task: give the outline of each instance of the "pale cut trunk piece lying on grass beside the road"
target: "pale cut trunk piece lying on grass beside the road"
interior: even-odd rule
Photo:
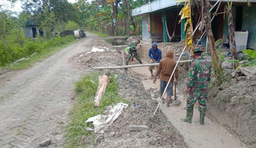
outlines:
[[[99,86],[96,92],[96,96],[94,98],[94,107],[100,106],[101,99],[103,98],[106,92],[107,85],[109,84],[109,82],[110,82],[110,79],[107,75],[101,75],[99,77]]]

